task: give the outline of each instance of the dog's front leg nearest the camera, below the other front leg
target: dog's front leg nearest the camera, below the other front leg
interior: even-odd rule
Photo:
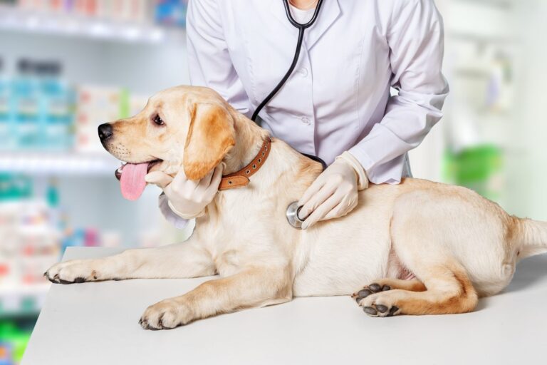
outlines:
[[[204,282],[192,292],[154,304],[142,314],[139,323],[144,329],[172,329],[216,314],[291,299],[292,279],[288,267],[252,267],[231,277]]]

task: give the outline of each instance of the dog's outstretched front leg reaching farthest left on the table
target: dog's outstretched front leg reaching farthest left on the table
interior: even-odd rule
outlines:
[[[215,273],[209,252],[190,239],[174,245],[127,250],[101,259],[73,259],[46,272],[51,282],[204,277]]]

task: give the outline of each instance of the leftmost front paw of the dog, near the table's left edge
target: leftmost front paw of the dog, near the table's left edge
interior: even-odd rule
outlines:
[[[75,259],[59,262],[44,273],[50,282],[56,284],[74,284],[91,282],[99,279],[97,270],[89,260]]]

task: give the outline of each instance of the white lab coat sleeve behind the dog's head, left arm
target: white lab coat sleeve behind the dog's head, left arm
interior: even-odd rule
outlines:
[[[240,113],[251,116],[249,96],[231,62],[216,0],[190,0],[187,12],[190,82],[219,93]]]

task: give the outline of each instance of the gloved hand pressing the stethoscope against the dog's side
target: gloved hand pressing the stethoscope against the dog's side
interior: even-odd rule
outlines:
[[[298,206],[302,229],[320,220],[343,217],[357,206],[358,190],[368,187],[365,170],[350,153],[345,152],[318,176],[304,192]]]

